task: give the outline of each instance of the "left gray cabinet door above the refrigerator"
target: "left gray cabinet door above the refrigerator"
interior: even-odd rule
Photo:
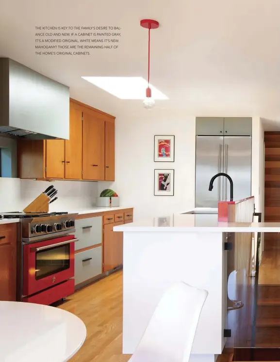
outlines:
[[[224,118],[222,117],[197,117],[197,136],[222,136],[224,134]]]

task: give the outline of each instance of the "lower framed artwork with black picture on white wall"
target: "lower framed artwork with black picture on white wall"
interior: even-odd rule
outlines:
[[[155,196],[174,196],[174,170],[155,170]]]

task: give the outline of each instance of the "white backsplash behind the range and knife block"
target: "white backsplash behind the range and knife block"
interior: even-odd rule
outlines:
[[[58,199],[49,205],[49,211],[89,208],[95,205],[98,182],[35,181],[0,177],[0,212],[22,211],[41,192],[53,185]]]

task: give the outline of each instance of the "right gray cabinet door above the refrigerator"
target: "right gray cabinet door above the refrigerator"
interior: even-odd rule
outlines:
[[[224,118],[224,136],[251,136],[252,118],[226,117]]]

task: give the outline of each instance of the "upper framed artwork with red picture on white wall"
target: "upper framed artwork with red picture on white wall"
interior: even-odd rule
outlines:
[[[155,136],[154,162],[174,162],[175,136]]]

